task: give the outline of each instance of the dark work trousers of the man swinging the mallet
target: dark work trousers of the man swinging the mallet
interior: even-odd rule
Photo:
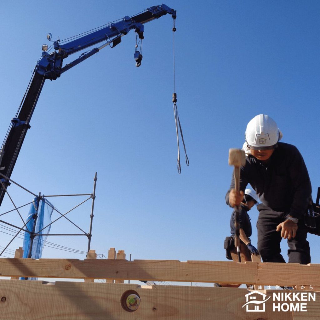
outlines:
[[[287,213],[274,211],[264,204],[258,205],[258,251],[263,262],[285,262],[281,255],[280,241],[281,231],[276,231],[279,223],[286,220]],[[288,257],[291,263],[308,264],[311,261],[310,247],[307,241],[307,231],[304,219],[299,219],[297,234],[291,240],[287,240],[289,250]]]

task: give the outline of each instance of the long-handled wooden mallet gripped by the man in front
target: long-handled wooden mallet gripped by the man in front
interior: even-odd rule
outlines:
[[[245,152],[241,149],[229,149],[229,165],[233,165],[235,176],[235,190],[240,191],[240,167],[245,165]],[[240,256],[240,231],[239,231],[239,206],[235,207],[235,246],[237,248],[238,259],[241,262]]]

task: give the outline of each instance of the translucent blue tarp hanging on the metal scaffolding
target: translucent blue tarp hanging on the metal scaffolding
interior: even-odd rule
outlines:
[[[38,204],[38,198],[34,198],[28,213],[27,224],[26,224],[26,228],[30,232],[32,232],[33,230],[33,225],[35,221],[34,216],[37,211],[37,204]],[[51,225],[48,227],[46,226],[51,223],[52,212],[53,212],[53,205],[49,201],[47,201],[45,198],[42,198],[40,200],[40,204],[38,207],[38,217],[36,220],[35,233],[38,233],[40,231],[40,234],[49,234]],[[44,227],[46,228],[43,229]],[[33,259],[41,258],[42,250],[43,250],[46,239],[47,239],[47,236],[35,236],[32,244],[31,258]],[[22,246],[23,258],[28,258],[29,251],[30,251],[30,244],[31,244],[30,240],[31,240],[30,233],[25,232],[24,239],[23,239],[23,246]],[[24,279],[24,278],[20,278],[20,279]],[[36,278],[32,278],[32,279],[36,279]]]

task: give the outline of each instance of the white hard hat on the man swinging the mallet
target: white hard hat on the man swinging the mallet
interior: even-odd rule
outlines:
[[[276,122],[267,115],[258,115],[251,119],[244,135],[253,150],[273,149],[282,138]]]

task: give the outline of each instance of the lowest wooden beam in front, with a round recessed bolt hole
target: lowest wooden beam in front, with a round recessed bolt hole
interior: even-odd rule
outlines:
[[[121,296],[134,290],[141,299],[136,311],[121,306]],[[279,291],[279,290],[278,290]],[[273,290],[263,291],[272,295]],[[320,293],[308,302],[307,312],[275,312],[271,299],[264,312],[248,312],[243,288],[154,285],[151,289],[136,284],[102,284],[0,280],[0,320],[318,320]],[[254,293],[254,292],[253,292]]]

